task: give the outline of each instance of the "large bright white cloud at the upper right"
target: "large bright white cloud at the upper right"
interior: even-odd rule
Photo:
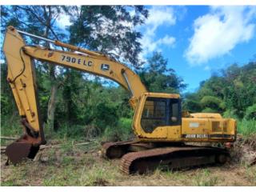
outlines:
[[[194,21],[194,35],[185,52],[191,66],[228,54],[255,33],[255,6],[212,6],[210,13]]]

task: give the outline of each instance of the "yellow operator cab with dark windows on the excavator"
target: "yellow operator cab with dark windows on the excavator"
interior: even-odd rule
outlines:
[[[178,94],[143,94],[137,112],[137,122],[146,137],[155,130],[166,137],[174,126],[180,129],[182,125],[182,106]]]

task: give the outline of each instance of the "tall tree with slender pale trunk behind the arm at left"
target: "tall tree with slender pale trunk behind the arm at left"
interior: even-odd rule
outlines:
[[[45,38],[63,39],[65,34],[55,25],[56,19],[69,10],[65,6],[3,6],[2,30],[6,26],[16,26],[19,30],[26,30],[31,34],[38,34]],[[29,39],[29,42],[39,44],[38,39]],[[50,47],[48,42],[44,46]],[[38,64],[40,62],[37,62]],[[50,99],[47,110],[47,124],[50,129],[54,126],[54,112],[56,109],[56,95],[60,79],[56,76],[56,67],[44,65],[50,78]]]

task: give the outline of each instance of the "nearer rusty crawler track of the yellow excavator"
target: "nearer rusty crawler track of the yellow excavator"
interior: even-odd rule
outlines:
[[[162,147],[123,155],[120,169],[126,174],[135,172],[143,174],[147,170],[154,170],[161,165],[169,166],[172,169],[183,166],[199,166],[214,162],[218,154],[226,153],[226,150],[214,147]]]

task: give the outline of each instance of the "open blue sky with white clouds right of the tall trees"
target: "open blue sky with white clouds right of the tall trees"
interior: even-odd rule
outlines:
[[[162,51],[169,66],[194,91],[212,72],[243,65],[256,54],[256,6],[147,6],[138,30],[142,58]]]

